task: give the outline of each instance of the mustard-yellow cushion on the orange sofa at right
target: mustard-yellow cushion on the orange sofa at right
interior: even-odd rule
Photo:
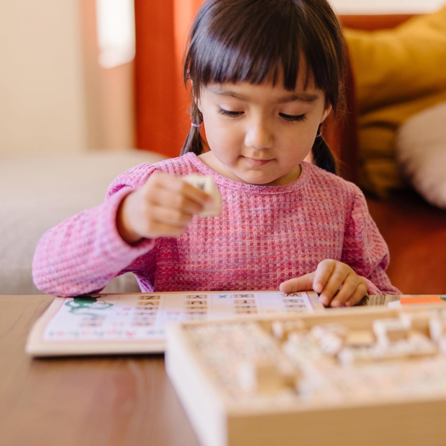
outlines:
[[[396,130],[446,98],[446,7],[391,30],[345,29],[359,105],[359,178],[379,195],[401,187]]]

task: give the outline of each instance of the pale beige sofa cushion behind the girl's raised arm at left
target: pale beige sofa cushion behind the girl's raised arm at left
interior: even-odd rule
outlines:
[[[96,206],[121,172],[161,155],[139,150],[0,160],[0,294],[41,294],[31,277],[37,241],[50,227]],[[139,291],[132,274],[107,292]]]

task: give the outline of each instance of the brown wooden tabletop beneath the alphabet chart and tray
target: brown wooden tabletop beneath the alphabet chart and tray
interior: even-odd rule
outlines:
[[[2,446],[192,446],[162,355],[31,359],[49,296],[0,296]]]

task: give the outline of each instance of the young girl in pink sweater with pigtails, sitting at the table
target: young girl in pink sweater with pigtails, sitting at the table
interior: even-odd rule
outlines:
[[[131,271],[143,292],[314,289],[326,306],[399,293],[364,196],[320,134],[344,48],[326,0],[206,0],[186,50],[182,156],[128,170],[103,204],[43,235],[37,287],[75,296]],[[212,176],[220,215],[198,217],[211,197],[191,173]]]

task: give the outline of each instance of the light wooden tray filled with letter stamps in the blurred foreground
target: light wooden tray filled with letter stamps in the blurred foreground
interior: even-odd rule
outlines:
[[[177,323],[165,364],[206,446],[440,446],[445,321],[424,305]]]

